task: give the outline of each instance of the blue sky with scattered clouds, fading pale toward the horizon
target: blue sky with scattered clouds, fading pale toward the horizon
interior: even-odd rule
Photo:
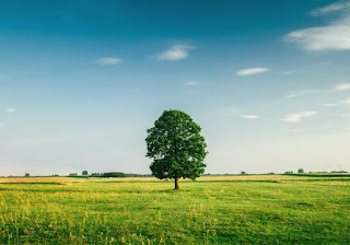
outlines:
[[[0,176],[150,173],[168,108],[207,173],[350,171],[349,1],[0,2]]]

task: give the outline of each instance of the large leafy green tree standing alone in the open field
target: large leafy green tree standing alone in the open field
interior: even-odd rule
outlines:
[[[178,189],[179,178],[195,180],[205,173],[203,160],[208,152],[200,130],[188,114],[164,110],[154,127],[147,130],[145,156],[153,159],[152,174],[160,179],[175,179],[175,189]]]

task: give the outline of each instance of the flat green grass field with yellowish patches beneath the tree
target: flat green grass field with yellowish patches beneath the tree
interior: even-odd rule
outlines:
[[[350,244],[350,178],[0,178],[0,244]]]

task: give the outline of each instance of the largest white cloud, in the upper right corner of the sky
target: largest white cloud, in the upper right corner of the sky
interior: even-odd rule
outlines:
[[[338,19],[324,26],[293,31],[283,40],[310,51],[350,50],[350,2],[334,3],[311,11],[313,15],[341,11]]]

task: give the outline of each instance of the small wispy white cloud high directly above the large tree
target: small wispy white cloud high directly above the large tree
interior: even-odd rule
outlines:
[[[163,61],[177,61],[182,59],[186,59],[188,57],[188,50],[196,48],[190,45],[174,45],[167,50],[156,54],[153,58],[156,60]]]

